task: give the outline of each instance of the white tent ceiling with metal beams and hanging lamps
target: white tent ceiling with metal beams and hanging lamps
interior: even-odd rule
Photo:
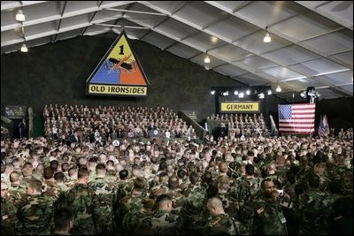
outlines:
[[[1,53],[79,35],[149,42],[251,86],[353,95],[352,1],[2,1]],[[26,20],[15,19],[19,9]],[[263,42],[266,28],[272,42]]]

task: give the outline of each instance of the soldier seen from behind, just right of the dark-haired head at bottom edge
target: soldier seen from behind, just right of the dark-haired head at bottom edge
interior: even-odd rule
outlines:
[[[73,210],[73,234],[96,234],[94,218],[96,194],[88,187],[89,170],[82,166],[78,171],[76,185],[59,198],[59,207],[68,207]]]

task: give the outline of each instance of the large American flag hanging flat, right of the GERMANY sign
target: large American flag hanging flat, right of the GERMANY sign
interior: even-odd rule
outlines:
[[[316,104],[278,105],[281,133],[314,133]]]

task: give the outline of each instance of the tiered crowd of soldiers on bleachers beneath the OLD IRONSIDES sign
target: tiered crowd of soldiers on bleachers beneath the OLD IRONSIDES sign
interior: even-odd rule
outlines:
[[[165,107],[45,105],[45,137],[61,141],[106,142],[118,138],[149,138],[149,131],[167,138],[196,139],[192,126]]]

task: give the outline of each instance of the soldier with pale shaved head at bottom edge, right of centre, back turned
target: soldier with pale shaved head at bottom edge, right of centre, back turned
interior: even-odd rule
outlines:
[[[247,234],[245,227],[225,213],[222,202],[217,197],[209,199],[207,208],[212,218],[205,225],[205,233],[209,235],[241,235]]]

